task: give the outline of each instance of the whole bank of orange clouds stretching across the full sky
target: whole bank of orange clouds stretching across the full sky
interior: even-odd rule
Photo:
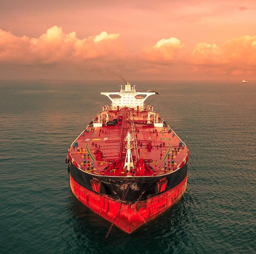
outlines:
[[[0,65],[44,70],[50,66],[53,74],[67,71],[75,77],[93,71],[107,75],[107,69],[138,77],[255,75],[256,36],[233,38],[220,45],[201,42],[193,49],[175,37],[156,40],[137,53],[129,51],[128,46],[120,33],[106,31],[79,39],[76,32],[65,33],[58,26],[38,38],[17,37],[0,29]],[[53,65],[60,68],[53,69]]]

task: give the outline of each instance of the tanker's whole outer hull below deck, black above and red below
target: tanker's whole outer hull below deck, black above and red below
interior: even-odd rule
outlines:
[[[149,179],[141,181],[141,177],[99,178],[70,165],[70,187],[75,197],[105,220],[132,233],[181,199],[187,187],[187,164],[164,177],[152,176],[150,182]],[[94,188],[95,182],[98,188]],[[107,189],[109,187],[114,191]]]

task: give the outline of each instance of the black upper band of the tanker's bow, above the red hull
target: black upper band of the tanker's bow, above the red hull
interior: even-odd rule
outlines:
[[[86,171],[77,169],[73,164],[70,165],[70,175],[83,188],[95,192],[92,187],[92,179],[97,179],[101,184],[99,194],[105,194],[114,200],[122,200],[126,203],[135,203],[138,200],[145,200],[156,196],[157,182],[163,178],[167,179],[166,192],[179,185],[187,175],[187,164],[183,165],[175,172],[148,177],[109,177],[89,174]]]

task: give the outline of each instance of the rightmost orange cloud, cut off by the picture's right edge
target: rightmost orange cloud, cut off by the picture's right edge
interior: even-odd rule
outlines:
[[[251,76],[255,74],[256,36],[234,38],[221,46],[198,43],[188,62],[194,72]]]

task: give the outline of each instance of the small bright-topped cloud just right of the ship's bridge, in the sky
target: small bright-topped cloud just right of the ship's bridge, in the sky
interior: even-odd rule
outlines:
[[[172,62],[182,48],[183,45],[177,38],[161,39],[153,47],[144,49],[141,58],[160,64]]]

